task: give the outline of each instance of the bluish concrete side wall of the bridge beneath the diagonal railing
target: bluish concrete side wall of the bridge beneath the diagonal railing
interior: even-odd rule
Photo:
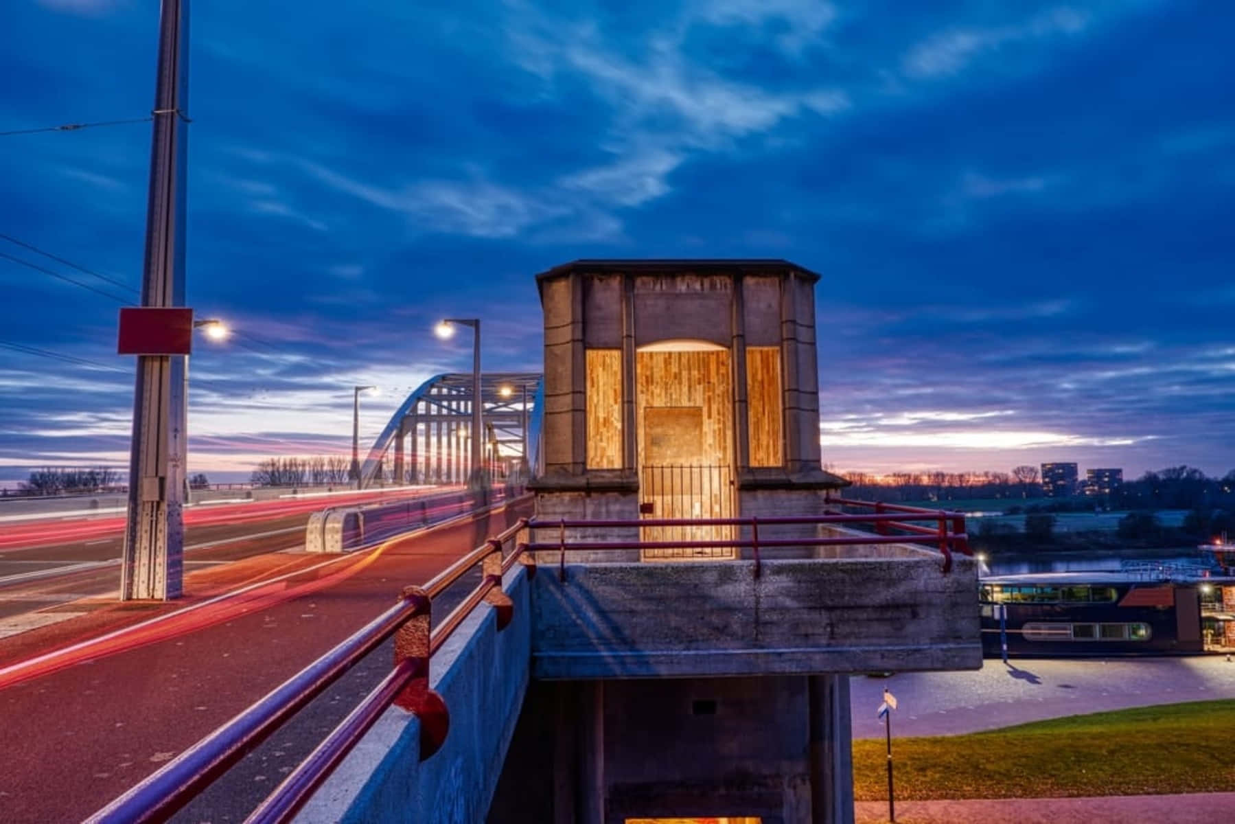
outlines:
[[[506,629],[498,633],[493,609],[482,604],[433,657],[431,684],[450,709],[442,749],[420,761],[420,723],[393,707],[296,822],[484,820],[527,688],[531,649],[526,571],[516,566],[504,586],[515,604]]]

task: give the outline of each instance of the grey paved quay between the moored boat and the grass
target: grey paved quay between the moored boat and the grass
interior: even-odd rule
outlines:
[[[1235,698],[1235,662],[1223,656],[1010,663],[988,658],[976,672],[857,676],[850,681],[853,738],[883,736],[874,713],[884,687],[899,702],[893,735],[957,735],[1061,715]]]

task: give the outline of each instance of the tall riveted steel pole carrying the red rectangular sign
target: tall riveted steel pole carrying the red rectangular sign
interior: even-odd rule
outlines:
[[[189,0],[162,0],[142,306],[184,305]],[[190,330],[191,334],[191,330]],[[140,355],[120,598],[178,598],[184,577],[185,356]]]

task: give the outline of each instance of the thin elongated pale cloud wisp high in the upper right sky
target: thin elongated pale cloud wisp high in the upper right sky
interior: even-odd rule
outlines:
[[[931,35],[913,46],[902,58],[905,77],[929,80],[958,74],[973,59],[1014,43],[1077,36],[1091,23],[1089,16],[1061,6],[1035,15],[1021,23],[993,27],[958,26]]]

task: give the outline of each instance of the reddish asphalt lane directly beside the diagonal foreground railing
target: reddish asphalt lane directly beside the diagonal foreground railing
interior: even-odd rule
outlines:
[[[290,576],[162,612],[72,652],[70,666],[0,668],[0,820],[90,814],[388,608],[403,586],[429,579],[527,514],[530,505],[521,507],[335,556],[326,566],[322,556],[301,555]],[[389,671],[389,655],[375,651],[351,673],[356,678],[306,708],[308,723],[259,747],[184,820],[243,818],[312,749],[314,736],[346,715],[343,697]],[[211,798],[227,809],[203,812]]]

